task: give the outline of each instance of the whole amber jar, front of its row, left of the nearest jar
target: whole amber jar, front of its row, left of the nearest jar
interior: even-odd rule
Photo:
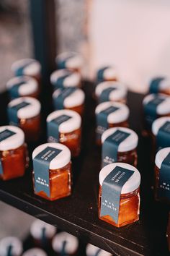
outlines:
[[[47,200],[71,195],[71,152],[60,143],[45,143],[32,153],[34,192]]]

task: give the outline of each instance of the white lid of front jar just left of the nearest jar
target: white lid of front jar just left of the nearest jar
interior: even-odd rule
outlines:
[[[50,170],[55,170],[58,168],[62,168],[66,166],[71,161],[71,151],[61,143],[45,143],[37,148],[32,152],[32,159],[35,158],[37,154],[45,150],[45,148],[57,148],[58,150],[62,150],[61,153],[55,156],[52,161],[50,161]]]

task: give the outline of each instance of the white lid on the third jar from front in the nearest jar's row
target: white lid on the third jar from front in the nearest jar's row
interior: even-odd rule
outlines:
[[[126,106],[123,103],[119,103],[119,102],[114,102],[113,103],[113,102],[110,102],[110,101],[106,101],[106,102],[100,103],[97,106],[97,108],[95,110],[95,113],[99,114],[101,111],[104,111],[104,109],[109,108],[110,106],[113,106],[113,107],[116,107],[116,108],[119,108],[119,109],[110,113],[107,116],[107,122],[109,124],[114,124],[114,123],[117,124],[117,123],[120,123],[122,121],[126,121],[128,119],[129,114],[130,114],[128,106]]]

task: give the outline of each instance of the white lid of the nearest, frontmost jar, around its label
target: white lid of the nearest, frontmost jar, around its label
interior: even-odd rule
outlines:
[[[104,179],[109,175],[116,166],[120,166],[122,168],[127,168],[130,171],[135,171],[130,179],[123,185],[121,194],[126,194],[133,192],[135,189],[138,189],[140,185],[140,173],[134,166],[131,166],[128,163],[110,163],[107,166],[104,166],[102,170],[99,172],[99,184],[102,186]]]

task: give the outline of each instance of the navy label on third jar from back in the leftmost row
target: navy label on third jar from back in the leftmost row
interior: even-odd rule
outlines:
[[[18,125],[19,119],[17,116],[17,112],[19,111],[19,109],[25,108],[28,105],[30,105],[30,103],[28,103],[26,101],[22,101],[22,103],[19,103],[15,106],[8,107],[7,111],[8,111],[8,118],[9,118],[10,123],[12,123],[14,125]]]

